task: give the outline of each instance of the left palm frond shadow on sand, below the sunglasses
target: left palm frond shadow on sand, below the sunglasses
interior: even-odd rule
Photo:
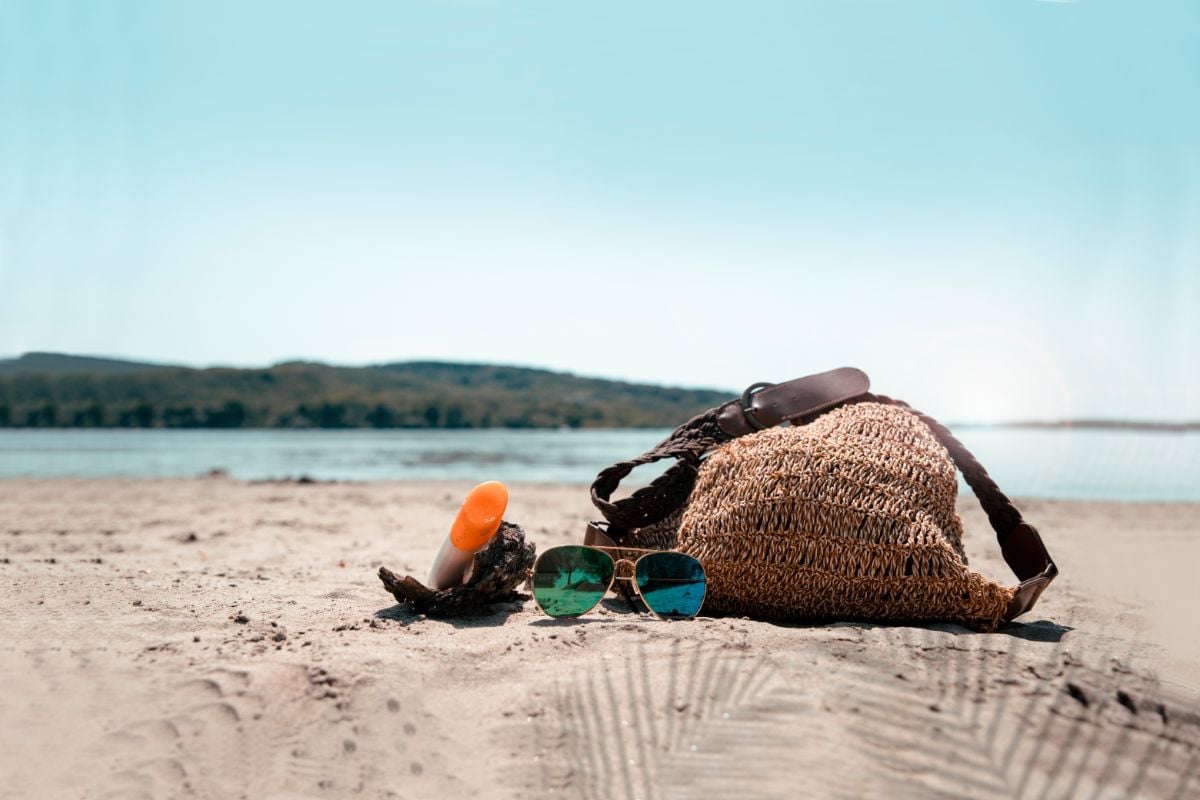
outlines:
[[[544,777],[565,796],[804,794],[793,768],[804,760],[805,721],[814,710],[761,654],[707,646],[680,652],[677,640],[670,656],[655,658],[643,646],[559,685],[553,704],[553,738],[563,752]]]

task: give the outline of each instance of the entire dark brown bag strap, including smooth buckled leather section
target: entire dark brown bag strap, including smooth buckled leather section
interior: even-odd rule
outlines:
[[[596,476],[592,483],[592,501],[610,523],[607,533],[601,534],[605,543],[618,545],[626,531],[661,522],[683,507],[695,486],[700,462],[719,444],[784,421],[806,422],[846,403],[887,403],[912,411],[929,426],[988,515],[1001,554],[1021,582],[1004,619],[1015,619],[1033,608],[1042,591],[1058,575],[1037,529],[1021,518],[1021,512],[1000,491],[988,470],[946,426],[902,401],[871,395],[869,389],[865,373],[844,367],[785,384],[755,384],[740,398],[692,417],[654,449],[637,458],[618,462]],[[635,467],[664,458],[674,458],[676,463],[649,486],[623,500],[611,499]],[[601,541],[596,536],[599,533],[596,527],[589,525],[588,540]]]

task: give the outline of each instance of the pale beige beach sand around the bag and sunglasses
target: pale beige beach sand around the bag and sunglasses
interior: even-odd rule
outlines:
[[[1062,576],[992,634],[413,615],[376,571],[424,576],[466,488],[0,481],[0,796],[1200,796],[1198,505],[1021,504]]]

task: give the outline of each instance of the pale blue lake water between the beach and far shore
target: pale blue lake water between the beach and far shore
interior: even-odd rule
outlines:
[[[502,480],[589,483],[668,431],[0,431],[0,477]],[[1013,497],[1200,500],[1200,434],[956,432]],[[641,481],[658,470],[635,473]]]

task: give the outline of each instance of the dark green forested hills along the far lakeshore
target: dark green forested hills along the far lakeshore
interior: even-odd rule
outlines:
[[[71,359],[71,356],[58,356]],[[66,362],[64,362],[65,365]],[[599,428],[673,427],[727,393],[540,369],[413,362],[286,363],[80,372],[0,369],[0,427]]]

